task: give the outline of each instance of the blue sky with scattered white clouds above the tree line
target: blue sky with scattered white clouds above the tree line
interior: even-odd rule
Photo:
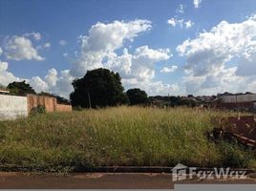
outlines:
[[[0,0],[0,84],[69,97],[87,70],[150,96],[256,92],[255,0]]]

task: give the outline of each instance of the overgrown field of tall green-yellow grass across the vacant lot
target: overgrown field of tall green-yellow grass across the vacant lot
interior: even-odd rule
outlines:
[[[214,143],[216,117],[236,113],[117,107],[0,122],[0,166],[73,171],[77,166],[230,166],[255,168],[253,151]]]

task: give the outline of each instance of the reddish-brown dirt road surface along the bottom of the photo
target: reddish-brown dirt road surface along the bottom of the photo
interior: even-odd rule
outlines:
[[[177,183],[255,183],[255,178],[246,180],[183,180]],[[65,176],[35,175],[24,173],[0,173],[0,188],[173,188],[171,174],[135,173],[81,173]]]

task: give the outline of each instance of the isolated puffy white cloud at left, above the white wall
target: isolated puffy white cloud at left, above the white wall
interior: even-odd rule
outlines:
[[[5,54],[8,59],[12,60],[37,60],[45,58],[37,53],[33,48],[32,41],[25,36],[12,36],[5,45]]]

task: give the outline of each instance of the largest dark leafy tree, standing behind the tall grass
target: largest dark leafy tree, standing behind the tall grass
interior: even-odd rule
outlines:
[[[118,73],[107,69],[87,71],[84,77],[73,81],[75,91],[71,94],[71,103],[75,107],[92,108],[116,106],[128,102],[123,92]]]

